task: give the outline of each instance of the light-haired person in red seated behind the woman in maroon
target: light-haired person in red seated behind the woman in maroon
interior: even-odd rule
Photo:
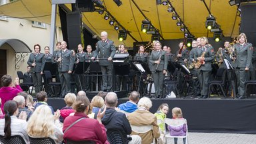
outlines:
[[[77,96],[75,95],[75,93],[67,93],[67,95],[65,95],[64,101],[66,103],[66,107],[63,107],[60,111],[61,111],[61,117],[59,117],[59,121],[61,121],[61,123],[63,123],[64,119],[70,115],[70,113],[74,113],[75,110],[72,108],[73,103],[75,102],[75,99],[77,98]]]

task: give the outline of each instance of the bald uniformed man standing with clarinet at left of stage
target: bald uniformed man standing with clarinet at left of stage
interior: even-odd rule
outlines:
[[[73,71],[73,65],[75,63],[75,58],[73,52],[67,49],[66,41],[61,42],[61,51],[57,55],[59,79],[61,81],[61,95],[60,97],[65,97],[67,93],[71,92],[71,73]]]

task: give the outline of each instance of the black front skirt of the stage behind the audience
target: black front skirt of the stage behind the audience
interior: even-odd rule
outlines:
[[[125,103],[127,98],[119,98],[118,103]],[[161,103],[168,103],[171,109],[181,107],[183,117],[187,119],[189,131],[218,133],[255,133],[256,134],[256,99],[151,99],[152,113]],[[63,99],[48,99],[54,109],[65,107]]]

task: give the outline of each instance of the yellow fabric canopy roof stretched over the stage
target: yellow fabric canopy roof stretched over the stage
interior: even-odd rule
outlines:
[[[145,16],[151,21],[164,39],[181,39],[184,33],[176,25],[176,20],[171,17],[173,13],[167,11],[168,5],[156,5],[155,0],[121,0],[123,4],[119,7],[112,0],[104,0],[103,5],[127,29],[137,41],[151,41],[151,35],[141,32],[141,21],[145,17],[135,7],[135,3],[143,11]],[[205,28],[206,17],[209,13],[203,3],[199,0],[170,0],[171,4],[181,17],[189,31],[195,37],[213,37],[213,33]],[[237,6],[230,6],[229,0],[205,0],[211,13],[221,25],[223,35],[226,37],[236,37],[239,34],[240,17],[237,16]],[[71,9],[71,4],[67,4]],[[32,21],[51,23],[51,0],[17,0],[0,7],[0,15],[19,17]],[[118,41],[118,32],[114,25],[109,25],[109,20],[104,19],[105,13],[84,12],[83,23],[89,27],[93,34],[100,36],[101,31],[109,33],[109,39],[115,41],[115,45],[124,43],[128,47],[133,47],[133,40],[127,35],[127,40]],[[57,26],[60,26],[59,15],[57,14]]]

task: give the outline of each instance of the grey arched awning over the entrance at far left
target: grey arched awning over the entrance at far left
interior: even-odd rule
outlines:
[[[10,45],[11,48],[13,48],[13,50],[15,51],[15,53],[31,53],[32,52],[29,46],[27,46],[26,43],[24,43],[19,39],[0,39],[0,47],[5,43]]]

